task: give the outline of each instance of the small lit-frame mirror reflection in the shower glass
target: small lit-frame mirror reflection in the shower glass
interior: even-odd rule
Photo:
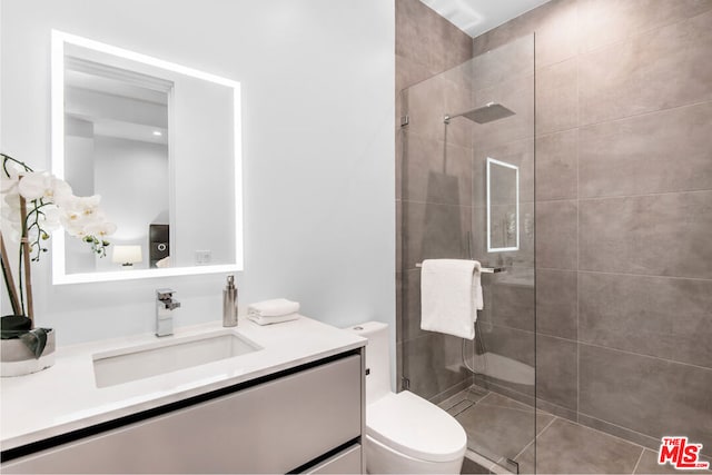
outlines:
[[[520,248],[520,168],[487,158],[487,251]]]

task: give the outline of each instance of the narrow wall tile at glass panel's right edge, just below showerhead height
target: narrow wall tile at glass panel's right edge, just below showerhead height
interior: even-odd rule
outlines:
[[[536,138],[536,200],[578,197],[578,129]]]

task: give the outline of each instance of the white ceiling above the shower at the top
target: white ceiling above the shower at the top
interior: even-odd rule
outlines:
[[[421,0],[475,38],[548,0]]]

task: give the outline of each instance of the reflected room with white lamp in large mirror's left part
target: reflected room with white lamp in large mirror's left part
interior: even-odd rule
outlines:
[[[160,78],[65,57],[65,178],[75,192],[100,195],[107,215],[120,224],[111,259],[97,259],[81,241],[67,240],[67,273],[117,270],[117,264],[125,269],[170,267],[168,232],[157,243],[149,231],[167,231],[170,222],[171,90],[172,82]]]

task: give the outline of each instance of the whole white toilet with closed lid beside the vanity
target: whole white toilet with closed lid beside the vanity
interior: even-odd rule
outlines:
[[[388,326],[352,328],[366,347],[366,471],[370,474],[459,474],[467,435],[436,405],[404,390],[390,392]]]

